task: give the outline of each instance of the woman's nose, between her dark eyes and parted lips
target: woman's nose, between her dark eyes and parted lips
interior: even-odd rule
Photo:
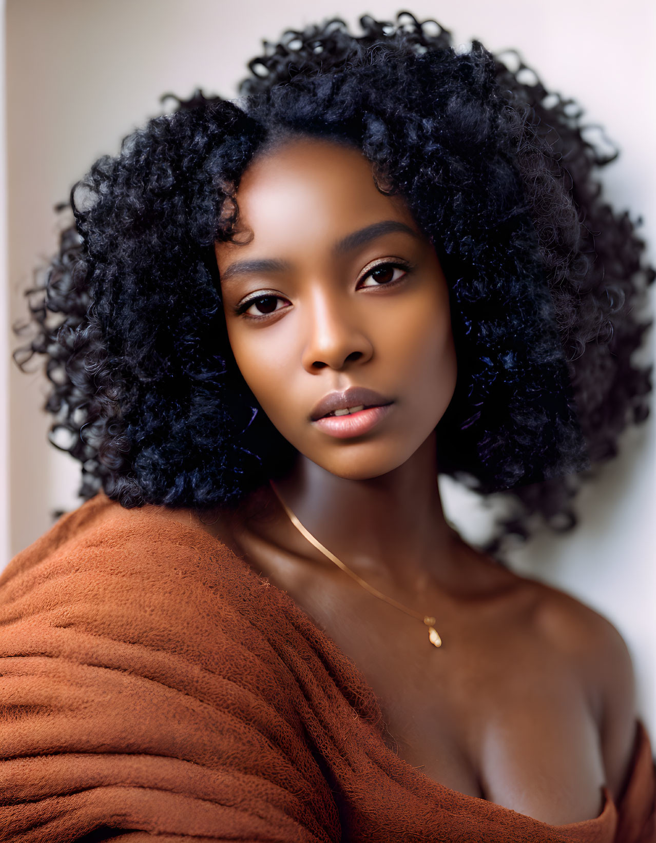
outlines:
[[[316,294],[305,309],[304,320],[307,340],[303,365],[309,373],[348,368],[367,362],[374,353],[363,326],[358,325],[357,310],[347,300]]]

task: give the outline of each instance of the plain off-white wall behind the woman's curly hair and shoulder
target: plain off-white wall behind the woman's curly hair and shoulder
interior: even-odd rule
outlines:
[[[643,214],[643,234],[656,244],[652,0],[625,0],[621,6],[570,0],[566,7],[551,0],[416,0],[412,6],[418,17],[438,17],[457,43],[479,37],[494,51],[519,47],[547,87],[575,96],[590,122],[603,122],[622,149],[621,160],[606,174],[607,194],[618,207]],[[116,153],[126,132],[159,111],[160,94],[186,95],[200,85],[234,96],[245,61],[259,50],[262,37],[275,39],[287,26],[335,14],[353,21],[357,10],[331,0],[311,6],[302,0],[8,0],[7,7],[13,318],[24,314],[20,291],[30,284],[35,262],[55,247],[51,207],[67,198],[94,158]],[[386,0],[363,3],[363,11],[379,18],[392,17],[397,8]],[[6,327],[3,316],[3,343]],[[52,509],[77,505],[77,468],[46,445],[47,420],[38,411],[44,389],[39,374],[11,374],[13,552],[51,524]],[[5,421],[0,414],[0,470]],[[653,455],[651,420],[626,435],[620,458],[583,491],[576,533],[541,536],[514,554],[514,564],[567,588],[616,623],[636,663],[643,717],[656,734]],[[449,483],[443,488],[451,517],[465,534],[476,534],[485,513]],[[6,513],[0,494],[0,529]]]

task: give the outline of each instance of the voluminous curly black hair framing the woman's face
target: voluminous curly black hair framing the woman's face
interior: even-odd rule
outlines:
[[[656,273],[594,178],[616,153],[516,54],[457,52],[410,13],[360,24],[265,41],[237,102],[175,98],[73,187],[16,357],[46,355],[51,440],[69,436],[57,446],[82,463],[82,497],[229,505],[293,459],[230,352],[213,251],[245,168],[289,135],[361,150],[437,250],[459,368],[438,470],[520,504],[489,550],[536,513],[572,526],[577,473],[648,415],[651,368],[631,358]]]

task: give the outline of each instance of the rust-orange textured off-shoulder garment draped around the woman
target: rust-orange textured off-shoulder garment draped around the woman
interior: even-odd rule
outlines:
[[[0,840],[656,840],[629,785],[551,826],[438,785],[289,595],[196,522],[100,494],[0,577]]]

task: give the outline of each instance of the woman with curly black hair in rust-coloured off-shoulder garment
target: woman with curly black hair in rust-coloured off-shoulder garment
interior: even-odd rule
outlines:
[[[653,272],[567,104],[363,26],[73,190],[30,351],[90,499],[3,574],[9,840],[656,839],[621,637],[436,482],[562,524]]]

